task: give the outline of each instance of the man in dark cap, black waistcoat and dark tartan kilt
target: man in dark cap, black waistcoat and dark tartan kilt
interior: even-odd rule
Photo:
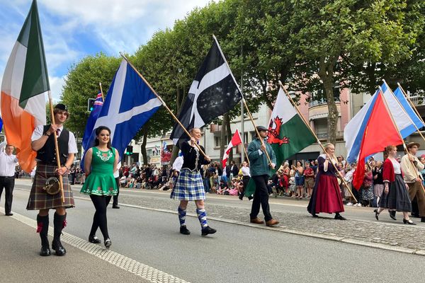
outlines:
[[[61,103],[57,104],[53,113],[55,116],[54,124],[36,127],[31,137],[31,146],[34,151],[37,151],[38,163],[27,209],[39,211],[37,215],[37,232],[40,233],[40,255],[42,256],[50,255],[49,241],[47,239],[49,209],[56,210],[53,218],[55,230],[52,249],[55,250],[56,255],[64,255],[67,250],[62,246],[60,236],[62,229],[67,224],[67,212],[65,209],[74,207],[74,197],[69,185],[68,172],[77,153],[77,143],[75,142],[74,134],[63,126],[64,122],[69,118],[67,106]],[[54,132],[57,133],[61,168],[57,168]],[[45,190],[47,179],[58,177],[58,175],[62,175],[64,202],[62,202],[61,192],[50,195]]]

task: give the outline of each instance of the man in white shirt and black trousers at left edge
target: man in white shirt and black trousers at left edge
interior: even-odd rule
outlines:
[[[5,148],[5,152],[3,149]],[[18,158],[13,154],[14,147],[3,141],[0,144],[0,198],[5,189],[4,214],[12,216],[13,187],[15,186],[15,167],[18,165]]]

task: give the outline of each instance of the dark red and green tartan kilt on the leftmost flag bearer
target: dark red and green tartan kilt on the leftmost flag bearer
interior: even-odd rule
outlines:
[[[61,192],[56,195],[49,195],[43,188],[46,185],[47,178],[57,177],[55,170],[57,166],[38,163],[35,171],[33,187],[31,187],[30,197],[28,199],[27,210],[55,209],[57,207],[71,208],[75,207],[74,197],[71,186],[69,185],[68,174],[62,175],[64,185],[64,199],[62,202]]]

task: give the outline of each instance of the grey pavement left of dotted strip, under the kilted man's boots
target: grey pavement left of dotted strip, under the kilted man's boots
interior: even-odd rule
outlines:
[[[41,257],[38,255],[40,238],[34,234],[35,226],[31,228],[23,224],[15,215],[4,216],[4,213],[0,213],[2,283],[149,282],[64,241],[62,244],[67,249],[67,255]],[[51,242],[52,237],[49,238]],[[103,253],[111,253],[103,250]]]

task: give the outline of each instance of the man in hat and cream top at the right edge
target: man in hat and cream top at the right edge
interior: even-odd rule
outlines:
[[[406,147],[409,152],[402,157],[401,162],[404,182],[409,185],[410,200],[413,201],[414,197],[416,197],[421,222],[425,222],[425,192],[422,186],[421,174],[419,173],[424,169],[424,164],[416,157],[419,144],[417,142],[410,142]]]

